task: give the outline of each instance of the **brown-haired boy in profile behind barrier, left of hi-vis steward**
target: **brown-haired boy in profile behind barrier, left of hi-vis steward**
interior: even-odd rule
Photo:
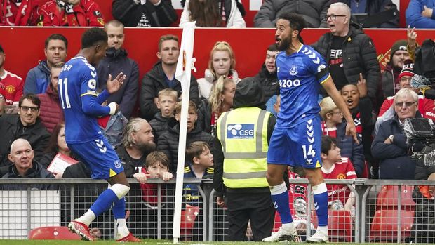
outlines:
[[[213,154],[203,141],[195,141],[186,148],[187,166],[185,178],[213,178]],[[203,187],[203,186],[202,186]],[[194,222],[192,241],[202,241],[203,237],[203,199],[197,184],[185,184],[183,199],[187,206],[198,206],[199,213]]]

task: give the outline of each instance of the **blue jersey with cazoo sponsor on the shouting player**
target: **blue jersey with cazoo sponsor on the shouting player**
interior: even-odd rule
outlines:
[[[281,51],[276,57],[281,91],[281,110],[276,120],[279,128],[293,128],[316,117],[320,84],[330,76],[326,62],[308,45],[290,55]]]

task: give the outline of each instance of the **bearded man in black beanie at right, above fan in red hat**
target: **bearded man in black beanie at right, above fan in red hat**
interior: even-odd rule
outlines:
[[[410,59],[410,55],[406,51],[406,44],[406,40],[399,40],[391,46],[389,62],[385,66],[384,72],[382,72],[382,93],[384,98],[394,96],[401,89],[398,77],[405,60]]]

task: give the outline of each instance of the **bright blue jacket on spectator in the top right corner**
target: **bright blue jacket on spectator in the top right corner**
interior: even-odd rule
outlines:
[[[423,17],[424,6],[431,8],[431,18]],[[435,28],[435,0],[411,0],[406,8],[406,25],[411,28]]]

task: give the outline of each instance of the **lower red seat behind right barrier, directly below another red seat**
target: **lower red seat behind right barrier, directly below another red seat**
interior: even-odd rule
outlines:
[[[370,228],[370,241],[395,241],[398,237],[397,220],[397,210],[377,210]],[[413,223],[414,211],[401,210],[402,241],[404,238],[410,237]]]

